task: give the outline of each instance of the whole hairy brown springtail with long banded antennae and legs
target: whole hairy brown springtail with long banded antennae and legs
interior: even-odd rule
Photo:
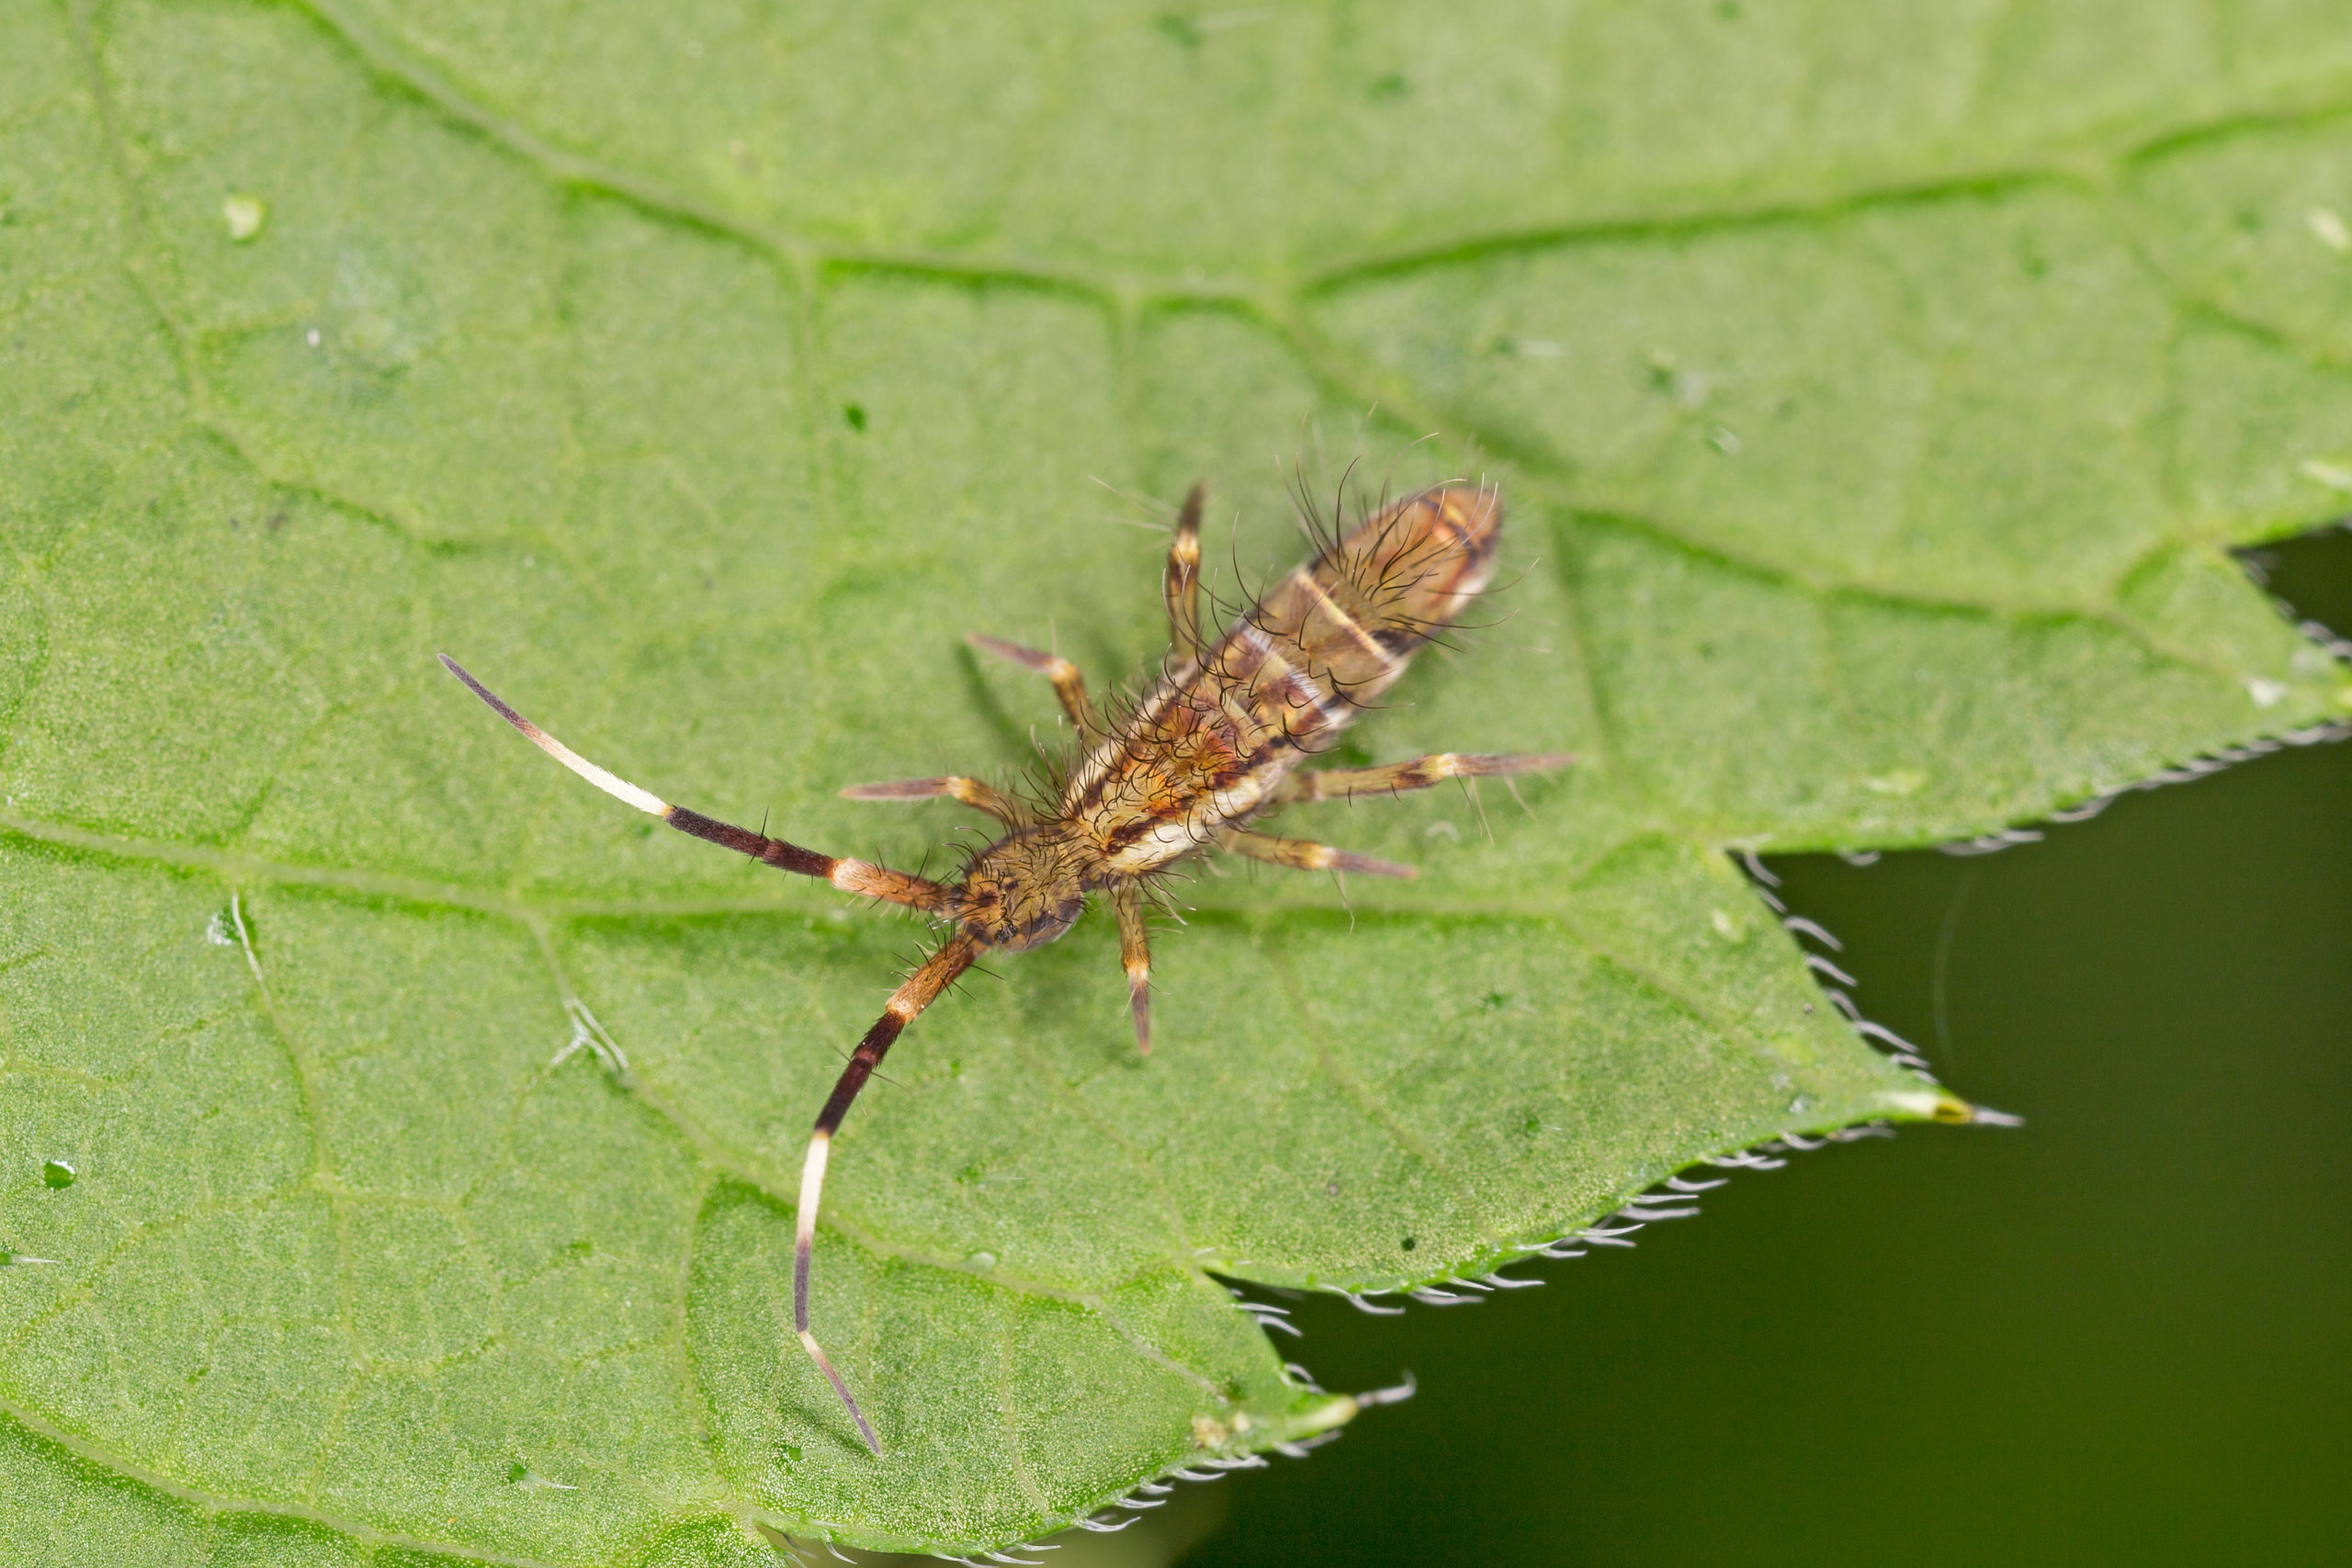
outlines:
[[[597,764],[508,708],[447,654],[442,663],[501,719],[567,769],[670,827],[762,865],[816,877],[844,893],[906,905],[946,940],[891,992],[816,1114],[800,1175],[793,1237],[793,1331],[840,1394],[858,1436],[882,1443],[847,1380],[809,1328],[809,1258],[833,1133],[898,1034],[988,952],[1021,952],[1061,938],[1101,896],[1120,926],[1136,1051],[1150,1053],[1150,938],[1145,900],[1181,860],[1225,851],[1298,870],[1414,877],[1414,867],[1310,839],[1256,830],[1291,802],[1428,790],[1446,778],[1512,778],[1562,769],[1566,755],[1435,752],[1369,769],[1303,771],[1390,684],[1411,656],[1484,592],[1503,531],[1503,496],[1486,484],[1439,484],[1364,515],[1341,531],[1345,480],[1329,524],[1303,501],[1315,557],[1242,607],[1223,635],[1200,618],[1200,484],[1185,496],[1162,571],[1169,654],[1160,679],[1098,712],[1077,668],[1058,654],[974,632],[971,646],[1044,675],[1075,731],[1068,759],[1047,759],[1030,797],[960,773],[854,785],[849,799],[957,799],[988,813],[1002,835],[969,856],[953,882],[931,882],[720,823],[673,806]]]

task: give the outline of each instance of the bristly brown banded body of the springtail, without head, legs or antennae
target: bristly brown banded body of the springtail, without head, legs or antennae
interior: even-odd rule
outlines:
[[[1171,672],[1070,776],[1061,816],[1120,877],[1247,823],[1486,585],[1501,531],[1501,496],[1470,487],[1367,520]]]

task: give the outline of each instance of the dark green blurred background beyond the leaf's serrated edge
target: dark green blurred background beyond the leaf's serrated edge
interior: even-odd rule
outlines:
[[[2352,630],[2352,534],[2251,567]],[[1865,1013],[2025,1128],[1743,1171],[1477,1307],[1305,1300],[1284,1345],[1324,1385],[1421,1394],[1138,1537],[1197,1568],[2352,1561],[2352,745],[1997,856],[1771,870]]]

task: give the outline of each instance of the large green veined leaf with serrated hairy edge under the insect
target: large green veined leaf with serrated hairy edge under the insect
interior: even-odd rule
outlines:
[[[1726,851],[2345,715],[2227,557],[2352,489],[2336,9],[9,0],[0,1556],[1000,1547],[1355,1413],[1209,1269],[1957,1107]],[[1512,581],[1352,745],[1583,762],[1287,818],[1411,886],[1207,865],[1148,1063],[1101,919],[929,1013],[818,1244],[877,1462],[790,1199],[917,933],[433,654],[920,863],[835,792],[1051,733],[962,632],[1129,679],[1122,524],[1207,477],[1230,595],[1355,454]]]

